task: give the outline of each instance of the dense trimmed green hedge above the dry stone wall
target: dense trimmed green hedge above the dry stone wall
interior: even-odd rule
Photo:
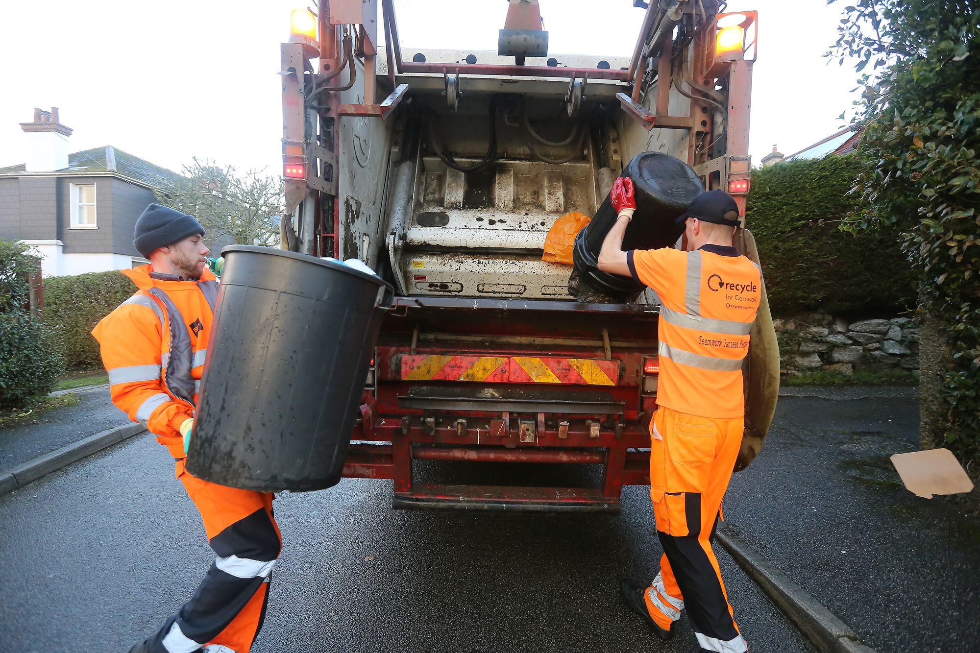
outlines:
[[[776,316],[823,309],[846,317],[914,307],[912,273],[898,235],[840,230],[858,206],[849,194],[854,155],[780,163],[754,171],[746,220],[759,245]]]

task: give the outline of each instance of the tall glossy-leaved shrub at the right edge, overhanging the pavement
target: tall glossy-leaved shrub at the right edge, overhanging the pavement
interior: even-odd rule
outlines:
[[[872,72],[858,80],[867,171],[849,227],[902,233],[923,308],[945,327],[941,378],[922,378],[943,401],[927,440],[980,463],[980,3],[860,0],[838,29],[831,54]]]

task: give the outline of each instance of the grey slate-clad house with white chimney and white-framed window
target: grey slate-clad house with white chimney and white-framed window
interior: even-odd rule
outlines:
[[[0,238],[41,254],[44,276],[122,270],[147,263],[132,246],[153,187],[175,173],[112,145],[69,153],[72,129],[58,109],[22,123],[28,160],[0,168]]]

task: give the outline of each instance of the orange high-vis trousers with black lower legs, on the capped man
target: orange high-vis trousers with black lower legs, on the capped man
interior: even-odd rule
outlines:
[[[651,424],[650,497],[663,547],[647,588],[650,616],[670,628],[686,607],[702,650],[748,650],[711,550],[721,500],[742,443],[742,418],[718,420],[661,407]]]

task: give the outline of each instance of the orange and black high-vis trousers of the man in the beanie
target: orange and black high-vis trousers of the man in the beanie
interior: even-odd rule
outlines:
[[[266,616],[269,578],[282,548],[272,494],[176,476],[201,511],[217,558],[194,596],[150,639],[154,653],[248,653]]]

